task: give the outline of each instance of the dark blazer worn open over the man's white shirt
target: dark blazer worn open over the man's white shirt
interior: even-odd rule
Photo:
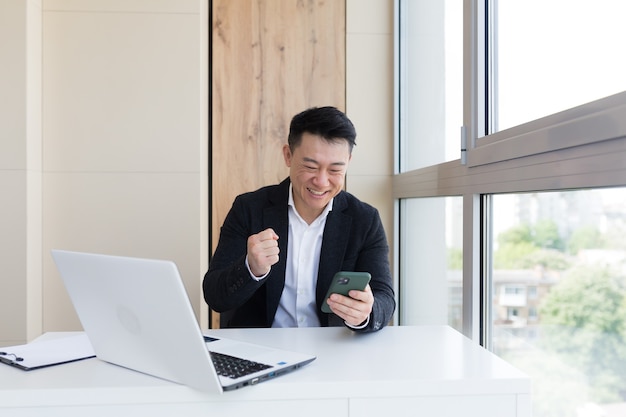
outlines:
[[[271,327],[285,285],[287,237],[289,235],[289,184],[263,187],[238,196],[220,232],[217,249],[204,276],[204,299],[222,313],[223,327]],[[261,281],[250,277],[245,265],[248,236],[271,227],[278,235],[279,261]],[[385,326],[395,310],[389,246],[378,211],[342,191],[328,214],[317,277],[317,307],[322,326],[342,326],[335,314],[320,310],[337,271],[366,271],[374,306],[369,325],[375,331]]]

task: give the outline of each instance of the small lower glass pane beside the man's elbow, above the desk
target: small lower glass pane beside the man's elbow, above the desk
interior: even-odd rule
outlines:
[[[401,200],[400,324],[463,326],[463,199]]]

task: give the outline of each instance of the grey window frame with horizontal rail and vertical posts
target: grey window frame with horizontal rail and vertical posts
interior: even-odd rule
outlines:
[[[483,238],[489,195],[626,186],[626,92],[485,136],[485,1],[464,1],[466,163],[459,158],[396,173],[392,194],[396,207],[403,198],[463,197],[463,333],[489,347],[492,294]],[[396,103],[399,97],[396,81]],[[397,104],[396,120],[400,111]]]

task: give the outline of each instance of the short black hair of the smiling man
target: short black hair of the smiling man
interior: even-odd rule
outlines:
[[[335,107],[311,107],[291,119],[288,143],[292,151],[300,145],[305,132],[321,136],[330,142],[346,140],[350,153],[356,145],[354,125],[345,113]]]

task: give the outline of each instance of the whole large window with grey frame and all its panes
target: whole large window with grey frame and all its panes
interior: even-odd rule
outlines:
[[[402,15],[407,4],[429,3],[439,2],[397,0],[399,27],[420,22]],[[400,324],[460,320],[532,376],[536,417],[610,415],[626,407],[626,3],[441,7],[397,33]],[[403,45],[419,28],[445,38],[448,10],[463,7],[462,112],[435,123],[428,105],[451,106],[452,61],[436,72]],[[442,157],[455,147],[448,123],[465,127],[466,159]],[[436,312],[416,306],[430,297]]]

